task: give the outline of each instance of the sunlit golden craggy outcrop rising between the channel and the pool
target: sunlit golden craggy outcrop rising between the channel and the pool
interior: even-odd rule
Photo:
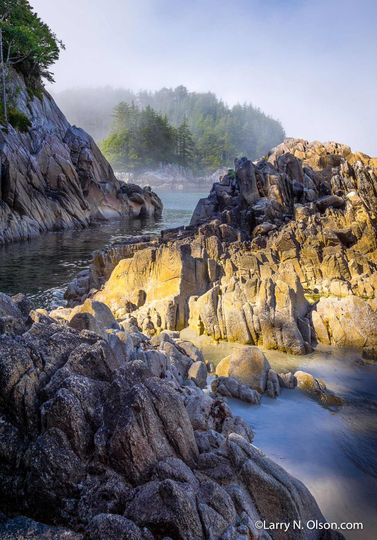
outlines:
[[[200,199],[188,227],[95,252],[74,306],[105,302],[159,332],[294,354],[311,342],[377,353],[377,160],[348,146],[286,139]]]

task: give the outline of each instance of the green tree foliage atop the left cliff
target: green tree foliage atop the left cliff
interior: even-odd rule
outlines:
[[[28,0],[1,0],[0,15],[4,14],[1,23],[4,62],[9,58],[24,75],[30,97],[42,99],[41,79],[53,82],[49,69],[64,45],[32,11]]]

